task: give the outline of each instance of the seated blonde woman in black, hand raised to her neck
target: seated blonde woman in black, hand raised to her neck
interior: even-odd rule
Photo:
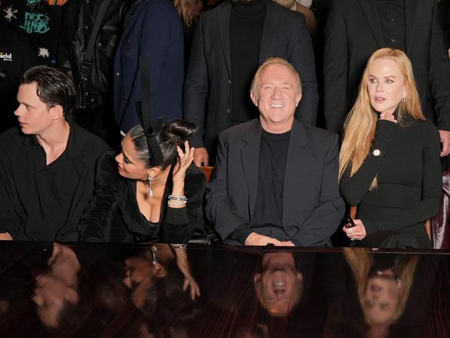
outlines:
[[[439,154],[438,130],[422,113],[408,57],[375,51],[339,154],[341,193],[359,206],[355,226],[343,228],[354,245],[431,248],[424,222],[438,213]]]

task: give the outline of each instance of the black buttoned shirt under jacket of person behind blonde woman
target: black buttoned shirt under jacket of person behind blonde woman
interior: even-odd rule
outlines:
[[[384,46],[406,51],[404,0],[377,0],[375,3]]]

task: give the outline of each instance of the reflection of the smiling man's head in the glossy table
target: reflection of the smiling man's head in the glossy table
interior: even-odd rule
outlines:
[[[258,299],[269,313],[284,316],[300,300],[303,275],[296,270],[294,256],[287,252],[267,253],[262,274],[255,275]]]

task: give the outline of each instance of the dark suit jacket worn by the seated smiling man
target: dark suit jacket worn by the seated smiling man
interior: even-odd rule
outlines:
[[[236,125],[219,136],[215,177],[206,195],[206,215],[222,239],[237,226],[249,223],[253,216],[260,139],[259,120]],[[295,120],[282,190],[284,232],[267,227],[258,228],[258,233],[279,240],[294,239],[303,246],[330,244],[344,209],[337,178],[338,155],[335,134]]]

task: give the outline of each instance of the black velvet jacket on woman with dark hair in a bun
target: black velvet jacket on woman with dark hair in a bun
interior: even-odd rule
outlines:
[[[203,194],[206,178],[196,166],[186,172],[186,208],[168,208],[167,197],[172,191],[169,175],[163,196],[161,220],[147,222],[136,200],[136,181],[118,174],[113,152],[98,161],[96,195],[80,224],[81,240],[86,242],[151,242],[186,243],[195,229],[203,229]]]

